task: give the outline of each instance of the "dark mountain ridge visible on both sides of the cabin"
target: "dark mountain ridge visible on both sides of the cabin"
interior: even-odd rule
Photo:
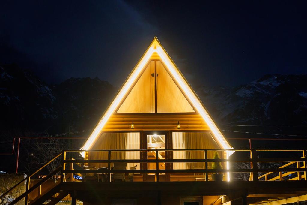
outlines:
[[[96,78],[47,85],[0,66],[1,129],[57,134],[92,129],[118,88]],[[195,89],[218,124],[306,125],[307,75],[265,75],[236,87]]]

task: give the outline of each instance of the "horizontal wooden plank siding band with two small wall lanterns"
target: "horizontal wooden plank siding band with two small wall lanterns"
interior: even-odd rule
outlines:
[[[181,130],[210,130],[204,119],[198,114],[183,113],[116,113],[112,115],[104,131],[131,131],[134,122],[137,130],[177,130],[177,123]]]

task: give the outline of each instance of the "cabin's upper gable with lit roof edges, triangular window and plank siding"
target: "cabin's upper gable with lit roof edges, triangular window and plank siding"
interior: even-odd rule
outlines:
[[[180,70],[154,37],[82,149],[91,148],[104,131],[209,130],[221,148],[231,145]]]

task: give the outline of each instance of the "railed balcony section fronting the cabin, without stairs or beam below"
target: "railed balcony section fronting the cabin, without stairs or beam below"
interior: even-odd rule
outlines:
[[[79,153],[103,158],[70,157]],[[214,153],[220,157],[213,159]],[[306,180],[305,150],[70,150],[63,156],[63,182],[210,182],[215,173],[223,174],[223,181]],[[134,159],[118,159],[125,156]],[[220,169],[212,169],[216,163]]]

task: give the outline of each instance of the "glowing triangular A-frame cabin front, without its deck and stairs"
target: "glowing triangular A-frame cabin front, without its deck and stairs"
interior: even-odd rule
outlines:
[[[231,145],[157,37],[154,37],[81,149],[159,149],[160,159],[185,159],[186,155],[189,159],[197,159],[204,157],[204,153],[168,153],[163,149],[231,149]],[[88,160],[107,157],[107,153],[102,152],[82,154]],[[208,152],[207,157],[212,159],[213,154]],[[226,152],[221,155],[227,158]],[[155,157],[154,151],[118,152],[112,159]],[[167,165],[160,164],[160,169],[170,168]],[[174,163],[171,168],[203,167],[200,165],[202,163]],[[147,168],[150,166],[155,168],[154,163],[149,163]],[[145,167],[138,164],[137,169]]]

